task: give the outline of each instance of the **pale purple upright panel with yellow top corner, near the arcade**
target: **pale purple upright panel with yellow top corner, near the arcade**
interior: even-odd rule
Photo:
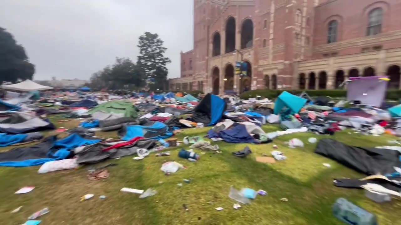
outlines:
[[[347,100],[356,104],[381,106],[386,96],[387,76],[350,77]]]

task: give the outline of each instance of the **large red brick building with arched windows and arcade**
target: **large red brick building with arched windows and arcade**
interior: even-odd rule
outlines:
[[[400,88],[400,11],[400,0],[194,0],[194,49],[170,89],[334,89],[386,74]]]

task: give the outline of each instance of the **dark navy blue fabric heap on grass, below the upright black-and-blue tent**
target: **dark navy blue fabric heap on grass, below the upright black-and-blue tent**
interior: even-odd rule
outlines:
[[[243,124],[231,127],[231,129],[225,129],[219,133],[215,133],[213,129],[211,129],[208,131],[208,137],[219,137],[228,143],[259,143],[247,132],[247,129]]]

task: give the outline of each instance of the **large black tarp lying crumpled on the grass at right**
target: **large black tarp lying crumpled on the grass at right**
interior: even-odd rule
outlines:
[[[315,153],[366,175],[393,173],[393,167],[401,166],[398,151],[349,146],[332,139],[320,140]]]

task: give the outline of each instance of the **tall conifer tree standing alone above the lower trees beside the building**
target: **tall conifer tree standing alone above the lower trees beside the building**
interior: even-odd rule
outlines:
[[[139,53],[138,63],[146,74],[147,79],[154,80],[154,84],[150,84],[151,90],[164,90],[167,83],[168,69],[166,65],[171,62],[168,57],[164,56],[167,48],[163,47],[163,41],[158,34],[145,32],[139,37]]]

